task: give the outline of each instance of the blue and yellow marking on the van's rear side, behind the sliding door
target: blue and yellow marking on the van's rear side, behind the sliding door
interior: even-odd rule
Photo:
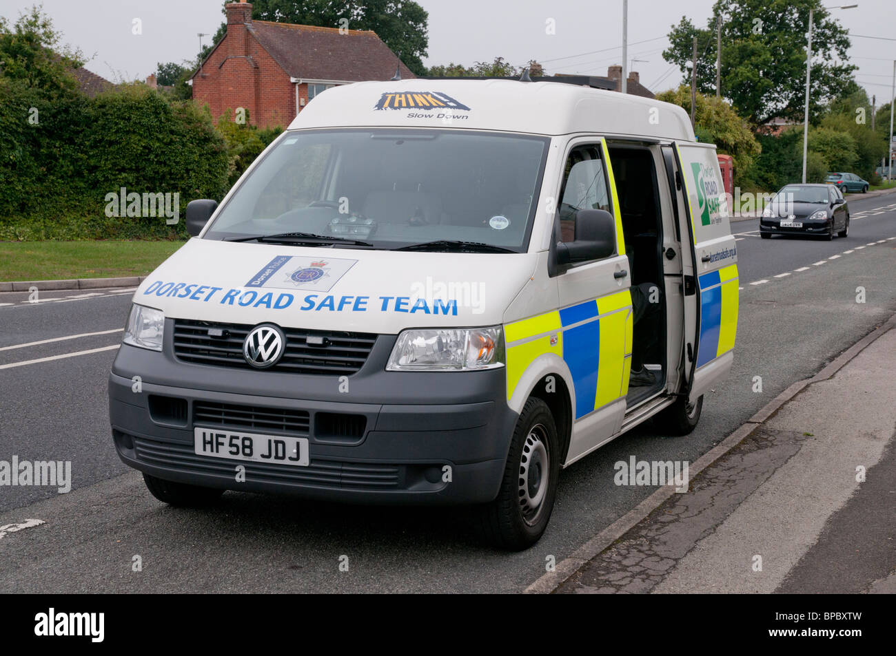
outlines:
[[[698,369],[734,348],[737,335],[737,264],[704,273],[699,281]]]

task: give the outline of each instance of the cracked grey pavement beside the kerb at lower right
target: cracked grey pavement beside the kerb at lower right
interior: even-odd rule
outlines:
[[[553,592],[896,592],[894,371],[896,315]]]

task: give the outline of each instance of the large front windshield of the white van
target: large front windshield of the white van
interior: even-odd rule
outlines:
[[[526,251],[548,141],[459,130],[286,132],[203,236],[301,234],[334,248],[476,243]]]

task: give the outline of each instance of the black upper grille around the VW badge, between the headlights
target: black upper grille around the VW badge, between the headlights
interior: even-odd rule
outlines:
[[[211,337],[209,328],[220,331]],[[219,367],[254,369],[243,358],[243,342],[254,326],[175,319],[174,354],[183,362]],[[373,333],[282,328],[286,349],[280,362],[262,371],[284,371],[316,375],[344,375],[358,371],[374,347]],[[309,345],[314,337],[320,345]]]

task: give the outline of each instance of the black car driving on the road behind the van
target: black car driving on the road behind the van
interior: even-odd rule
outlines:
[[[759,219],[759,234],[849,234],[849,206],[831,184],[788,184],[771,199]]]

